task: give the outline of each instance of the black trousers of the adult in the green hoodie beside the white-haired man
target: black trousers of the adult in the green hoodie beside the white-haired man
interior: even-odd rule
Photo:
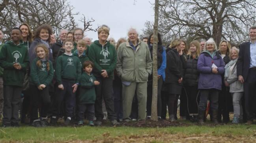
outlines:
[[[97,120],[103,119],[104,116],[102,112],[102,100],[104,100],[108,112],[108,119],[112,121],[113,119],[116,119],[116,114],[114,112],[113,80],[112,78],[101,77],[96,77],[96,79],[101,84],[95,87],[95,117],[97,118]]]

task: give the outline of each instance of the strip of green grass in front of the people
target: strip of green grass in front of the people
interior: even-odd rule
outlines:
[[[62,142],[71,140],[104,139],[142,134],[211,134],[213,136],[232,134],[234,136],[252,136],[256,134],[256,125],[217,125],[183,126],[166,128],[138,127],[45,127],[0,128],[0,142]]]

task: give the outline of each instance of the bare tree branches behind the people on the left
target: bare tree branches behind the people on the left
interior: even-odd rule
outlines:
[[[0,4],[0,29],[9,34],[11,29],[22,22],[28,23],[32,29],[41,24],[50,24],[54,33],[61,29],[72,30],[77,27],[74,7],[67,0],[4,0]],[[80,21],[86,22],[84,31],[92,30],[93,19]],[[57,36],[57,35],[56,35]]]

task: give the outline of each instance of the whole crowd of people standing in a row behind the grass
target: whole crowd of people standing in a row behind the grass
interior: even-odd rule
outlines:
[[[56,42],[48,24],[32,32],[26,23],[11,31],[11,40],[0,43],[0,115],[3,127],[18,127],[30,117],[34,127],[77,123],[101,125],[104,114],[112,125],[120,121],[151,118],[153,43],[157,41],[157,116],[203,124],[208,110],[211,121],[232,123],[254,119],[256,85],[256,27],[250,27],[250,41],[239,49],[213,38],[201,43],[174,39],[164,47],[161,34],[139,40],[136,29],[115,43],[110,28],[102,25],[98,40],[91,42],[84,31],[61,30]],[[0,40],[2,41],[2,31]],[[55,40],[55,41],[54,41]],[[2,82],[1,82],[2,81]],[[243,96],[245,95],[245,96]],[[21,103],[21,97],[24,99]],[[233,100],[231,100],[233,99]],[[242,99],[245,104],[242,105]],[[104,103],[104,104],[103,104]],[[3,108],[2,108],[3,107]],[[244,107],[244,108],[243,108]],[[21,110],[21,120],[19,119]],[[39,114],[38,114],[39,113]]]

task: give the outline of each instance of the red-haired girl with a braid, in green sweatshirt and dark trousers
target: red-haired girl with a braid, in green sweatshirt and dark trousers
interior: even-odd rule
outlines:
[[[30,93],[33,94],[30,123],[34,127],[45,127],[48,125],[49,85],[53,78],[53,66],[48,59],[49,51],[45,44],[37,45],[35,51],[37,57],[30,64]],[[39,103],[41,103],[40,119],[38,119]]]

